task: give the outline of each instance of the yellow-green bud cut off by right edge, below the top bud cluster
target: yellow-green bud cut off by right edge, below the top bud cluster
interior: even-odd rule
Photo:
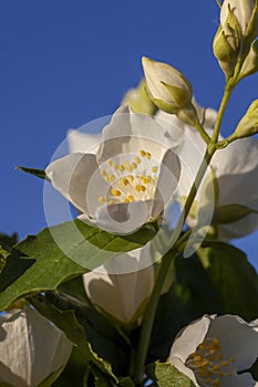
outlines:
[[[249,137],[258,133],[258,100],[255,100],[234,133],[236,138]]]

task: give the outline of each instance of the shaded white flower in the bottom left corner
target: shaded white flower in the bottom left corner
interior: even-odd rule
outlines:
[[[29,306],[0,316],[0,384],[37,387],[65,366],[71,351],[64,333]]]

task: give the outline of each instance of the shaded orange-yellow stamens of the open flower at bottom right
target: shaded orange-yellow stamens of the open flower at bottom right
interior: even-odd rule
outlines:
[[[186,359],[186,365],[196,376],[202,387],[219,387],[221,378],[230,378],[236,372],[235,357],[224,358],[217,337],[206,337],[195,353]]]

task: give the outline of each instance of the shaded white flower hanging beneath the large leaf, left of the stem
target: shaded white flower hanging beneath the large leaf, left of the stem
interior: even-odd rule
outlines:
[[[143,254],[148,266],[142,269]],[[149,250],[136,249],[115,257],[105,265],[83,274],[90,300],[123,324],[137,324],[154,285],[154,268]]]

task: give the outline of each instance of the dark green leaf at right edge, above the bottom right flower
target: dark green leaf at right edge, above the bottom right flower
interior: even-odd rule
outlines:
[[[247,321],[257,318],[258,274],[246,254],[224,242],[206,242],[197,254],[218,294],[223,313],[238,314]]]

